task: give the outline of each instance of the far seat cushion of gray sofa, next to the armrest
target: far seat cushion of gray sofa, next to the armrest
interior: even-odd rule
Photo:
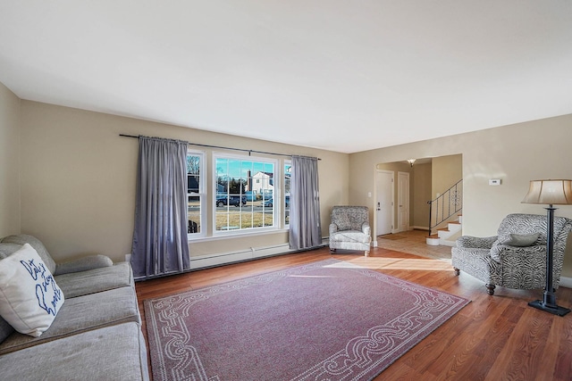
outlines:
[[[119,262],[100,269],[56,275],[55,281],[62,288],[67,299],[134,285],[133,273],[128,262]]]

